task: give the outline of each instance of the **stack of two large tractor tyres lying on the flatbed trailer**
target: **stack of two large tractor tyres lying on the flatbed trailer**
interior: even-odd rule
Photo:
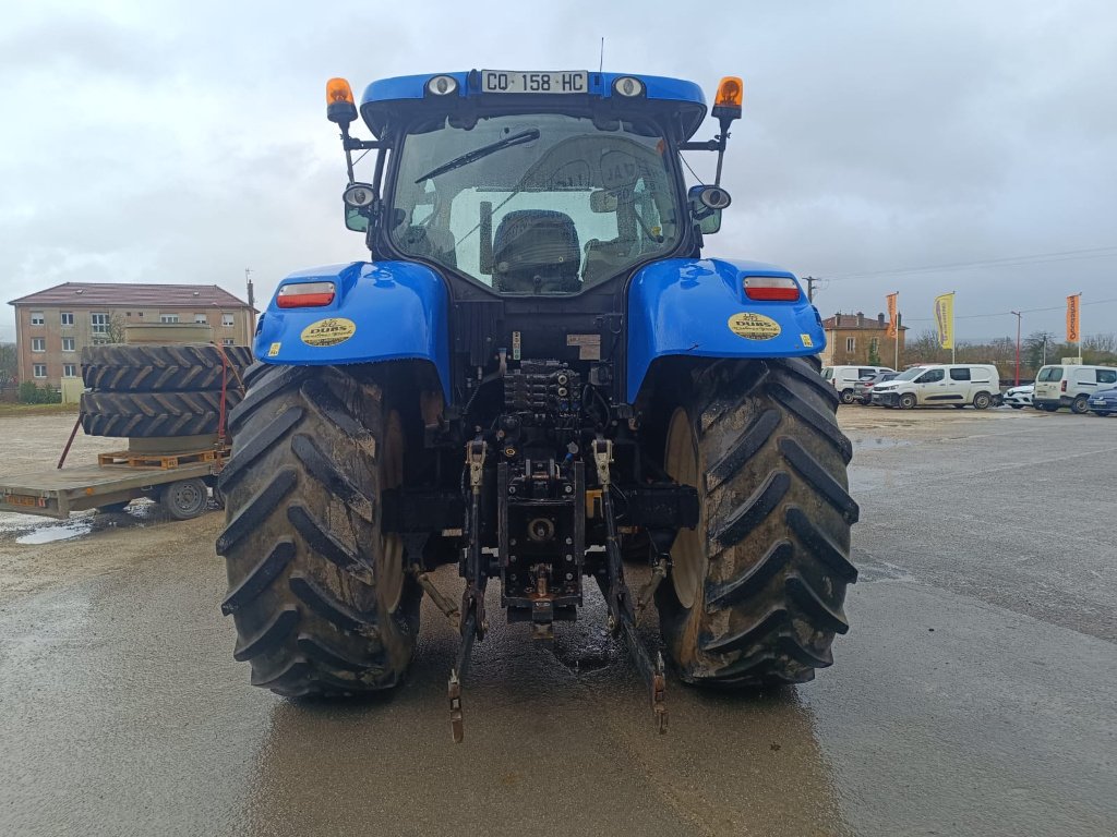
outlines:
[[[240,401],[238,375],[251,363],[245,346],[208,343],[109,344],[82,354],[82,429],[90,436],[198,436],[217,433]]]

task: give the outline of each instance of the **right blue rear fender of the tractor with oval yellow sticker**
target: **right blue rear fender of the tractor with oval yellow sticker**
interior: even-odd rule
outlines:
[[[750,276],[795,278],[772,264],[725,259],[665,259],[637,272],[628,299],[629,403],[659,357],[801,357],[822,352],[822,319],[802,288],[794,302],[757,301],[745,297]]]

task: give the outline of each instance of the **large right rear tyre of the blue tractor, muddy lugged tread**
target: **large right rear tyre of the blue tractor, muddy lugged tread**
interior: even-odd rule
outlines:
[[[723,360],[667,427],[665,468],[698,488],[657,605],[681,679],[731,689],[802,683],[831,665],[849,624],[857,503],[838,397],[802,358]]]

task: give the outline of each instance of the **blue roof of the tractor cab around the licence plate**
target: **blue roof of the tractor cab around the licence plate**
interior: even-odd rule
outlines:
[[[416,99],[430,98],[427,83],[438,76],[449,76],[458,83],[457,90],[448,98],[471,99],[476,104],[491,100],[495,104],[518,102],[552,102],[567,98],[563,95],[548,94],[493,94],[481,92],[481,70],[465,70],[460,73],[430,73],[421,76],[395,76],[373,81],[364,89],[361,97],[361,114],[369,128],[376,135],[391,116],[393,103],[408,103]],[[656,103],[661,109],[675,110],[682,121],[686,138],[689,138],[706,118],[706,97],[701,88],[694,81],[663,76],[645,76],[636,73],[586,73],[588,92],[570,98],[611,99],[613,81],[618,78],[637,78],[645,85],[643,102]],[[615,98],[622,98],[620,96]],[[626,99],[627,105],[633,104]]]

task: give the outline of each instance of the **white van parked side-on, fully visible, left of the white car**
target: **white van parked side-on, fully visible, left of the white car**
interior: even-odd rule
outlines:
[[[872,387],[873,404],[901,410],[941,404],[985,410],[1000,402],[1001,377],[992,364],[916,366]]]

